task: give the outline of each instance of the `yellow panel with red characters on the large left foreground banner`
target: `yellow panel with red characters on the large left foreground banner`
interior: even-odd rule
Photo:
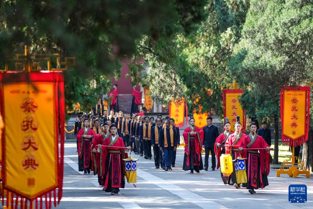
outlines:
[[[58,184],[51,82],[4,84],[5,186],[29,199]]]

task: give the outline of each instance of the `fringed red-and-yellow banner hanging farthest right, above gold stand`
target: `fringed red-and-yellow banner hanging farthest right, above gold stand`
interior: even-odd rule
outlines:
[[[280,90],[281,141],[292,146],[308,140],[310,86],[284,86]]]

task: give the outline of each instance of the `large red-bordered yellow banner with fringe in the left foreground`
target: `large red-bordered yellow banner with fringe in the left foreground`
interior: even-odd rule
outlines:
[[[0,82],[5,125],[1,138],[2,199],[6,190],[10,208],[14,204],[17,208],[23,198],[21,207],[25,208],[27,204],[30,208],[49,204],[50,208],[52,202],[56,206],[63,186],[64,134],[59,134],[59,124],[64,130],[65,119],[63,74],[9,71],[0,73]]]

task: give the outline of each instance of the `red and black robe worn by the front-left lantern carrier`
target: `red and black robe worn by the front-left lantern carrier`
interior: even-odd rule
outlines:
[[[102,170],[104,170],[104,188],[105,192],[118,192],[119,188],[125,186],[125,161],[123,159],[128,158],[125,149],[114,147],[125,147],[123,139],[115,138],[110,135],[106,138],[102,145],[112,147],[102,147]]]

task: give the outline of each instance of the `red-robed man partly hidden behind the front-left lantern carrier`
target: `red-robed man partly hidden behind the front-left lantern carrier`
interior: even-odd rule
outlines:
[[[109,132],[109,124],[101,123],[100,125],[101,133],[97,134],[94,140],[91,142],[91,149],[92,149],[92,167],[91,170],[94,171],[94,175],[98,175],[98,182],[99,185],[104,186],[103,184],[103,170],[100,165],[102,164],[102,152],[101,152],[101,144],[102,142],[110,136]],[[99,151],[99,152],[97,152]]]

